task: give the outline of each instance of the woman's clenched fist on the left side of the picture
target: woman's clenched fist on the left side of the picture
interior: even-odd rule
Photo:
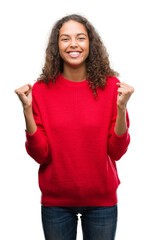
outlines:
[[[32,107],[32,86],[31,86],[31,84],[27,84],[21,88],[16,89],[15,93],[18,95],[20,101],[22,102],[24,109]]]

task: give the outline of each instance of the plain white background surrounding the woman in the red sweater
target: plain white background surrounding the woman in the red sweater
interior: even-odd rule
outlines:
[[[25,151],[25,121],[14,89],[34,84],[44,64],[50,30],[78,13],[100,34],[111,65],[135,88],[128,103],[131,144],[117,163],[116,240],[149,239],[148,6],[141,0],[5,0],[0,6],[0,239],[43,240],[38,164]],[[82,239],[80,220],[77,239]]]

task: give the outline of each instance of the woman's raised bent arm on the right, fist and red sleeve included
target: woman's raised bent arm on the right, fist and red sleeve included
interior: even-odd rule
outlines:
[[[108,154],[114,160],[119,160],[127,151],[130,143],[129,116],[127,102],[134,89],[126,83],[117,83],[119,87],[113,106],[113,117],[109,129]]]

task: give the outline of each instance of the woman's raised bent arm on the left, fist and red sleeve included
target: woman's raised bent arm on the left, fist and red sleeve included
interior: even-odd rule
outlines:
[[[15,90],[23,105],[23,112],[26,122],[26,142],[27,153],[39,164],[47,164],[49,159],[49,144],[38,107],[32,97],[32,86],[27,84]]]

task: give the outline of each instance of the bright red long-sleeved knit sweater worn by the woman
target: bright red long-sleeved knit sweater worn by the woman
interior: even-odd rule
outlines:
[[[112,206],[120,183],[116,160],[130,142],[117,136],[117,85],[108,78],[95,100],[88,80],[36,82],[32,89],[37,130],[26,132],[26,150],[40,164],[39,187],[44,206]],[[127,126],[129,118],[127,113]]]

